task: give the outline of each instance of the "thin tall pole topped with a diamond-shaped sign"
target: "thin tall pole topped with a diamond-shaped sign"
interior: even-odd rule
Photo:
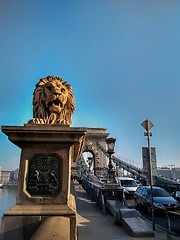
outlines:
[[[148,141],[148,163],[149,163],[149,183],[150,183],[150,190],[151,190],[151,212],[152,212],[152,226],[153,231],[155,231],[155,219],[154,219],[154,201],[153,201],[153,178],[152,178],[152,161],[151,161],[151,146],[150,146],[150,137],[152,133],[150,129],[154,126],[154,124],[146,118],[144,122],[141,123],[141,126],[146,130],[144,136],[147,136]]]

